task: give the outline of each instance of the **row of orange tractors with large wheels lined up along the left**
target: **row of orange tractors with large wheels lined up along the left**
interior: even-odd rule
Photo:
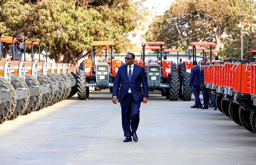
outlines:
[[[16,42],[15,37],[0,35],[0,123],[19,115],[39,111],[74,95],[77,91],[74,65],[34,61],[10,61],[2,57],[2,45]],[[24,41],[24,45],[40,44]],[[14,52],[14,50],[13,50]],[[12,52],[13,59],[14,53]],[[5,57],[5,56],[4,56]]]

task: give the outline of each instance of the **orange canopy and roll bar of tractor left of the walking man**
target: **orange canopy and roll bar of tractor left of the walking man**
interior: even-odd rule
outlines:
[[[91,46],[91,60],[93,61],[93,73],[94,72],[94,67],[95,67],[95,46],[110,46],[110,56],[111,56],[111,74],[110,76],[112,75],[112,53],[113,53],[113,45],[114,45],[114,42],[113,41],[93,41],[90,46]],[[106,48],[105,48],[106,50]],[[106,55],[105,55],[106,57]]]

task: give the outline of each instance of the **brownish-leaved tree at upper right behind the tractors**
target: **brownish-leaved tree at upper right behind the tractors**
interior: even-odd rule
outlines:
[[[153,22],[146,38],[163,40],[167,46],[181,46],[177,41],[184,39],[184,49],[191,41],[215,41],[219,49],[226,27],[238,24],[240,13],[253,18],[254,11],[251,0],[175,0],[165,15]]]

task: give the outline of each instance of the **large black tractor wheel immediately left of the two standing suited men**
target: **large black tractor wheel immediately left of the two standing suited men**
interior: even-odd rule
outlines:
[[[190,101],[191,95],[192,95],[192,89],[189,87],[189,79],[190,74],[188,72],[184,72],[182,74],[182,80],[181,80],[181,94],[182,94],[182,100],[183,101]]]

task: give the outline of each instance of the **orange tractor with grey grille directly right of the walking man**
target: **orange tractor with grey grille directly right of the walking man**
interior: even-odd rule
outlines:
[[[160,62],[155,59],[149,59],[145,63],[146,45],[160,45]],[[148,78],[148,87],[152,90],[157,89],[165,91],[166,99],[178,100],[179,97],[179,75],[176,70],[172,70],[174,62],[170,60],[162,60],[162,46],[164,42],[143,42],[143,65]],[[158,48],[152,48],[158,49]],[[162,92],[164,95],[164,92]]]

